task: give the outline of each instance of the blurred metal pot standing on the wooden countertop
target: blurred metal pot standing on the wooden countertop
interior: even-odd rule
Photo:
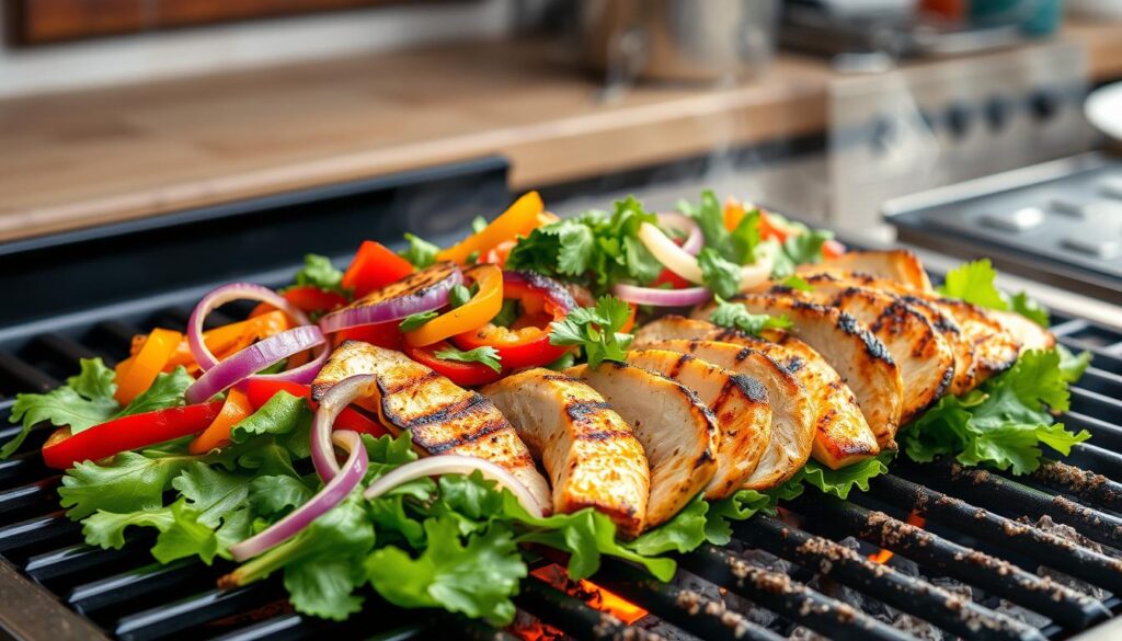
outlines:
[[[586,61],[609,82],[715,81],[761,73],[779,0],[581,0]]]

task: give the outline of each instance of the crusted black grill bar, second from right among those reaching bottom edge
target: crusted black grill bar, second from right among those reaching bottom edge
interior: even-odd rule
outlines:
[[[705,544],[681,558],[691,573],[837,641],[903,641],[912,637],[791,577],[757,568]]]

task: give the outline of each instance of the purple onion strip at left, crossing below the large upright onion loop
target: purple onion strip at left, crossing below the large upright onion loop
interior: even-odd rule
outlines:
[[[324,342],[327,342],[327,339],[323,337],[323,332],[313,324],[301,326],[273,335],[233,354],[226,360],[208,369],[197,381],[187,387],[184,397],[188,404],[202,403],[214,394],[229,390],[284,358],[313,347],[319,347]],[[321,357],[318,357],[315,360],[292,372],[284,372],[280,375],[292,377],[285,379],[304,379],[306,383],[310,376],[314,377],[315,373],[319,372],[319,367],[323,364],[322,357],[327,355],[327,351],[323,350]]]

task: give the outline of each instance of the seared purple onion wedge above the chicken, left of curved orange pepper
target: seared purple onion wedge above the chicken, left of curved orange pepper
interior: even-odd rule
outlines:
[[[462,284],[463,274],[459,267],[438,263],[324,315],[320,319],[320,328],[331,333],[439,310],[448,304],[452,287]]]

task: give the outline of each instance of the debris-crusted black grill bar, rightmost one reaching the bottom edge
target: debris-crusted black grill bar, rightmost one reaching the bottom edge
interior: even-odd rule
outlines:
[[[739,523],[735,531],[738,539],[757,548],[831,577],[959,637],[977,640],[1043,639],[1034,628],[983,607],[968,597],[904,576],[840,543],[809,534],[775,519],[756,515],[749,522]],[[1080,626],[1092,622],[1086,616],[1079,619]]]

